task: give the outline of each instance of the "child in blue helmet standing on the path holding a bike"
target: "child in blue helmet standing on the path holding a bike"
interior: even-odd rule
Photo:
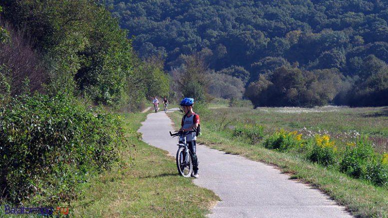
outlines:
[[[180,106],[182,106],[183,111],[185,112],[185,115],[182,118],[182,123],[181,123],[181,129],[183,131],[192,131],[194,130],[193,128],[198,128],[199,125],[199,115],[194,113],[193,111],[193,104],[194,104],[194,99],[192,98],[184,98]],[[191,154],[191,161],[193,162],[193,174],[191,175],[192,177],[198,178],[198,160],[197,160],[197,155],[196,155],[196,141],[197,136],[196,133],[191,133],[189,135],[186,135],[186,142],[190,150]]]

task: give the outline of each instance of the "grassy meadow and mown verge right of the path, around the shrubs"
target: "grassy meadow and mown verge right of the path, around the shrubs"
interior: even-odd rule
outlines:
[[[213,107],[214,108],[214,107]],[[169,114],[175,124],[182,114]],[[297,153],[269,150],[263,140],[248,143],[233,137],[233,129],[240,124],[259,124],[269,135],[278,129],[299,130],[304,134],[328,133],[346,140],[358,134],[369,134],[384,142],[388,136],[387,108],[227,108],[217,107],[201,116],[203,135],[199,142],[226,153],[239,154],[254,161],[278,166],[291,178],[307,182],[330,195],[358,217],[388,217],[388,189],[374,186],[338,172],[335,167],[324,167],[306,160]],[[383,153],[386,144],[376,143]]]

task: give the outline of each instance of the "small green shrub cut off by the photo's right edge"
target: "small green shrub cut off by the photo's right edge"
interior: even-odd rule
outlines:
[[[373,161],[365,171],[365,179],[377,186],[388,186],[388,165]]]

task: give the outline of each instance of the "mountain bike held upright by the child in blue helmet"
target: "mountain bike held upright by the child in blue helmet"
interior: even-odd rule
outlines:
[[[179,131],[174,134],[170,132],[172,137],[179,137],[178,140],[178,151],[176,152],[176,167],[178,168],[178,173],[183,177],[190,177],[193,172],[193,163],[191,162],[190,150],[186,143],[186,135],[195,133],[193,131]]]

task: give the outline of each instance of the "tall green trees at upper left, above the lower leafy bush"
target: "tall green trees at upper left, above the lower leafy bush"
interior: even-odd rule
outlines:
[[[32,38],[51,90],[82,93],[95,103],[127,104],[128,81],[141,61],[126,31],[102,5],[93,0],[6,0],[0,5],[3,19]],[[157,82],[168,85],[166,79]]]

